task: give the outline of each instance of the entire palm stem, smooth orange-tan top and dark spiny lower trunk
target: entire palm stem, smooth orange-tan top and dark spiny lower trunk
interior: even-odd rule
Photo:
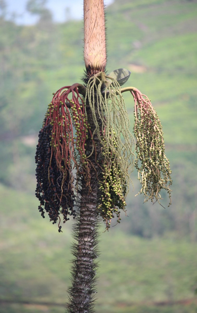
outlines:
[[[84,61],[87,77],[104,71],[106,66],[105,50],[105,23],[103,0],[84,0]],[[95,104],[96,105],[96,104]],[[96,108],[97,106],[95,106]],[[88,122],[94,131],[91,110],[86,103]],[[96,162],[99,159],[100,144],[94,135],[94,143],[97,151],[89,157],[90,186],[84,176],[81,177],[81,188],[79,190],[79,216],[74,225],[73,236],[77,241],[73,247],[73,272],[72,287],[69,289],[70,303],[67,307],[69,313],[90,313],[94,308],[95,295],[95,269],[94,262],[98,257],[98,214],[96,212],[98,198],[98,178],[100,168]],[[87,139],[87,156],[92,151],[92,140]],[[96,155],[95,155],[96,154]]]

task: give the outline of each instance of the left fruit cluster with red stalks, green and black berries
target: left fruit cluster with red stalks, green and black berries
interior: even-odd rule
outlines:
[[[36,197],[40,200],[39,211],[44,217],[44,209],[50,221],[56,223],[60,213],[64,223],[72,215],[74,207],[74,177],[72,170],[79,169],[87,184],[90,181],[89,162],[85,154],[85,140],[92,136],[84,110],[78,84],[65,86],[53,94],[48,105],[43,127],[39,132],[36,150]],[[72,99],[69,99],[69,94]],[[75,129],[75,133],[74,133]],[[59,226],[61,231],[61,226]]]

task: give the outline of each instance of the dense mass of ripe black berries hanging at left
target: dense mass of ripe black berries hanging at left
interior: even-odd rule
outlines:
[[[68,214],[75,217],[76,213],[73,210],[74,191],[71,183],[71,172],[67,169],[66,178],[63,179],[63,174],[57,167],[55,153],[50,146],[51,130],[50,124],[44,124],[38,135],[39,140],[35,156],[37,164],[36,197],[40,201],[38,209],[41,216],[45,218],[45,212],[48,213],[50,221],[55,224],[60,221],[60,213],[63,215],[64,222],[69,219],[67,218]],[[61,226],[59,226],[58,231],[61,231]]]

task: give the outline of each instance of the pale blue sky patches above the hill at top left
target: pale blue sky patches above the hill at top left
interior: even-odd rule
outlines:
[[[33,24],[36,17],[26,12],[27,0],[5,0],[8,12],[17,13],[15,22],[17,24]],[[113,3],[113,0],[104,0],[106,5]],[[73,19],[83,18],[83,0],[48,0],[46,7],[53,13],[53,20],[64,22],[66,20],[66,8],[70,9],[70,17]],[[9,14],[10,16],[11,14]]]

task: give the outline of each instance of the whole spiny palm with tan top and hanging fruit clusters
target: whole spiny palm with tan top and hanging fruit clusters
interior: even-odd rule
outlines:
[[[84,61],[84,85],[75,83],[54,93],[36,151],[36,197],[42,217],[45,210],[59,232],[60,214],[64,223],[69,216],[76,218],[70,313],[94,310],[99,220],[106,230],[114,217],[120,223],[134,166],[145,201],[160,202],[161,189],[169,197],[171,192],[162,127],[150,100],[134,87],[121,89],[130,75],[126,69],[105,74],[103,0],[84,0]],[[129,131],[122,96],[126,91],[134,98],[136,140]]]

